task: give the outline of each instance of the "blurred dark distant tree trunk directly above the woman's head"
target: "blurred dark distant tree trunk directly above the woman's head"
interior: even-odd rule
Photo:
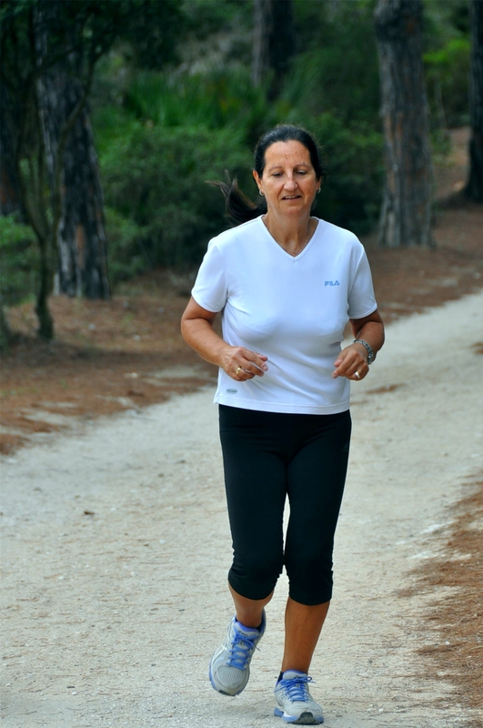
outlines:
[[[254,0],[254,4],[252,81],[260,86],[271,76],[268,100],[273,101],[296,50],[292,0]]]

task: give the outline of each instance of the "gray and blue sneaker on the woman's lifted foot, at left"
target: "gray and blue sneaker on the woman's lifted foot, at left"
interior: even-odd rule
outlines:
[[[209,663],[209,679],[218,693],[238,695],[244,690],[250,677],[252,655],[263,637],[266,623],[265,611],[259,630],[245,627],[233,617],[225,642],[218,647]]]

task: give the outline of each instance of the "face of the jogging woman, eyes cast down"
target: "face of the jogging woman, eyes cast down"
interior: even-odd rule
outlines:
[[[277,216],[302,217],[310,213],[321,185],[307,147],[296,141],[275,142],[267,147],[262,177],[255,170],[253,176],[267,199],[268,213]]]

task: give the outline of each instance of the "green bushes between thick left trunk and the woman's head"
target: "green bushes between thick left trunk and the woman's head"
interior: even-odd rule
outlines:
[[[136,226],[126,236],[116,232],[119,242],[108,232],[112,278],[128,275],[129,255],[134,268],[196,265],[208,239],[227,225],[223,197],[206,180],[229,170],[251,189],[252,148],[276,121],[243,70],[176,77],[139,72],[123,108],[98,109],[109,216]]]

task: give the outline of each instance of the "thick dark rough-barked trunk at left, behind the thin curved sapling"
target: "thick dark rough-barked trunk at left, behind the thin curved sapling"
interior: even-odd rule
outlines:
[[[45,3],[44,0],[42,3],[46,28],[48,16],[55,13],[58,2],[49,0]],[[75,33],[74,27],[70,30]],[[48,43],[48,32],[43,38],[45,43]],[[59,149],[65,125],[85,92],[78,81],[80,76],[79,60],[71,53],[62,66],[58,64],[49,69],[39,80],[47,168],[53,196],[57,192],[56,174],[58,171],[61,174],[61,210],[56,231],[58,288],[69,296],[109,298],[104,199],[86,105],[76,117],[63,148]],[[59,152],[61,158],[57,158]]]

